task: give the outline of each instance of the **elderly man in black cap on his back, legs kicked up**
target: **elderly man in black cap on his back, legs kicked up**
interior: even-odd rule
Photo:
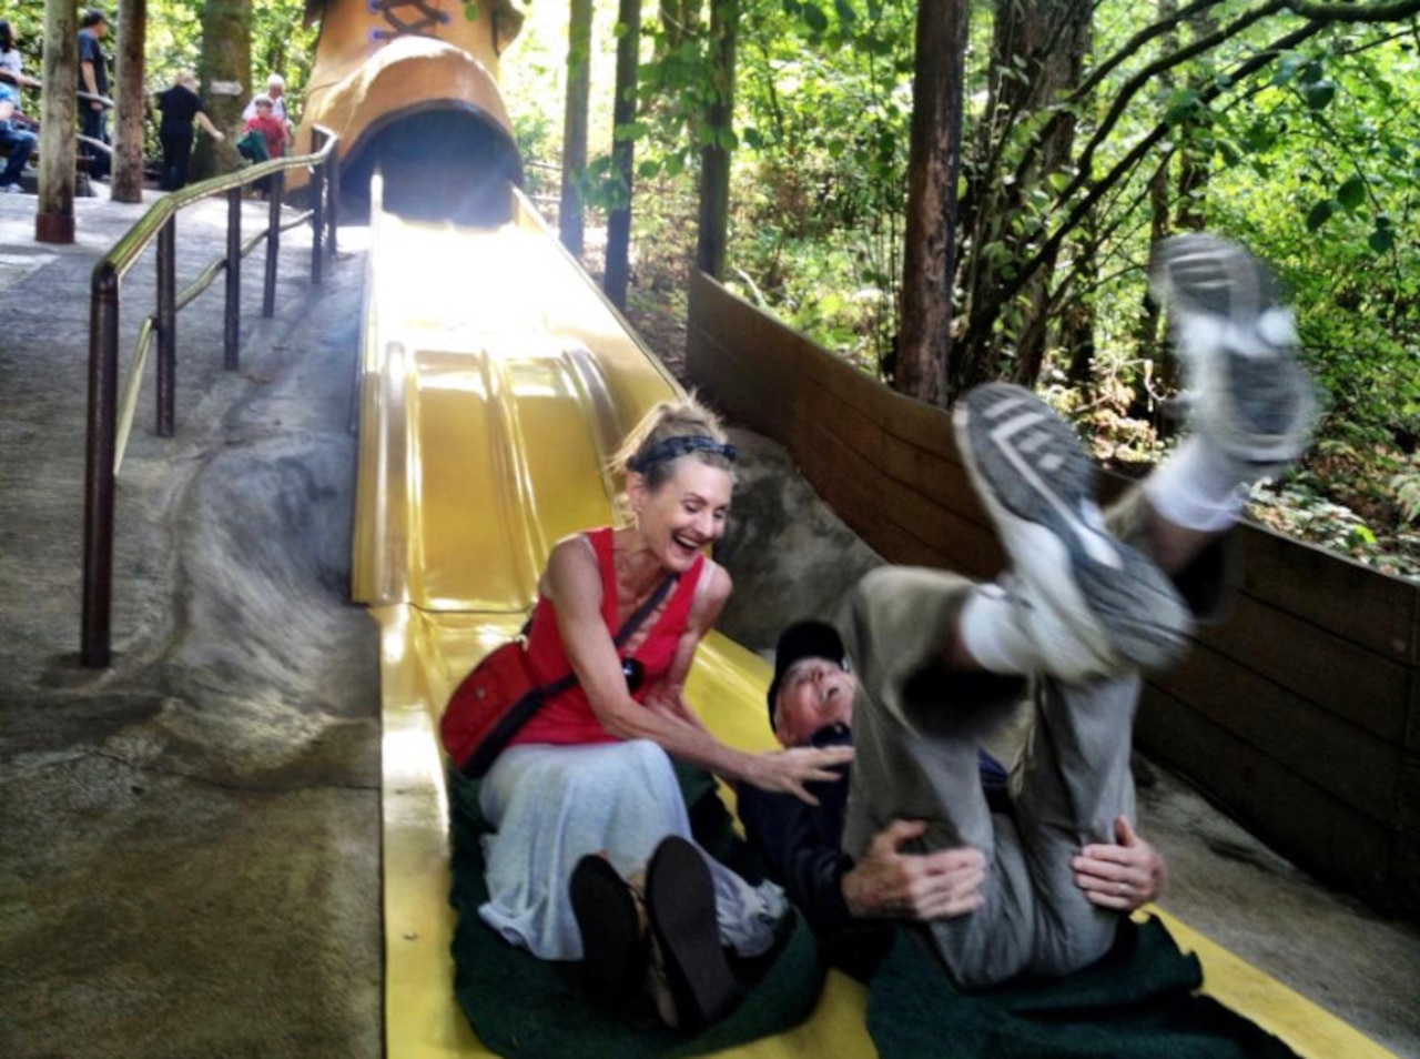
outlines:
[[[851,739],[851,782],[819,785],[816,809],[741,790],[740,815],[851,969],[880,947],[863,924],[890,917],[919,921],[961,988],[1068,974],[1163,884],[1132,824],[1139,674],[1177,660],[1193,617],[1216,608],[1241,488],[1301,455],[1314,398],[1292,316],[1245,250],[1166,240],[1153,287],[1194,389],[1191,432],[1109,529],[1071,428],[1020,387],[980,387],[956,429],[1010,571],[978,584],[880,567],[842,638],[807,623],[780,640],[774,731],[785,745]],[[1001,790],[978,745],[1027,692]]]

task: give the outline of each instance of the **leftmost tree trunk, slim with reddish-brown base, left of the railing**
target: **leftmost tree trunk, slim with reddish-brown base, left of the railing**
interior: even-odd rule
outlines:
[[[40,202],[34,237],[40,243],[74,242],[74,139],[80,77],[80,20],[74,0],[44,6],[44,97],[40,102]]]

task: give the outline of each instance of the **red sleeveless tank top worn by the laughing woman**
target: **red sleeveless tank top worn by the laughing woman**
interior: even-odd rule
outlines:
[[[602,620],[608,633],[615,637],[619,631],[616,623],[616,570],[612,564],[612,529],[604,527],[591,530],[586,534],[592,550],[596,554],[596,567],[602,573]],[[692,567],[680,576],[680,580],[670,591],[670,600],[660,611],[656,624],[642,640],[632,654],[645,671],[640,689],[632,697],[638,702],[657,679],[670,671],[670,662],[676,654],[676,644],[690,618],[690,604],[694,601],[696,586],[700,583],[700,571],[704,566],[704,556],[697,556]],[[532,627],[528,631],[528,660],[532,670],[541,675],[544,682],[551,684],[571,672],[572,664],[567,660],[567,648],[562,645],[562,634],[557,628],[557,610],[551,600],[538,596],[537,607],[532,611]],[[510,746],[520,743],[609,743],[618,742],[616,736],[602,728],[592,704],[586,698],[582,685],[574,684],[562,694],[548,699],[542,708],[532,715],[532,719],[523,725],[523,729],[510,741]]]

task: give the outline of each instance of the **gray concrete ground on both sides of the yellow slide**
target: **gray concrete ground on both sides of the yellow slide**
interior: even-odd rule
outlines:
[[[0,1055],[379,1056],[376,644],[345,600],[364,232],[342,232],[320,290],[308,236],[288,233],[273,320],[248,259],[239,372],[222,370],[220,283],[179,317],[178,434],[152,435],[148,380],[119,479],[115,664],[92,672],[88,283],[143,208],[80,200],[70,247],[33,242],[33,209],[0,196]],[[183,215],[179,286],[223,244],[224,209]],[[254,230],[264,206],[247,209]],[[124,301],[125,367],[151,273]],[[743,441],[726,624],[763,647],[876,560],[781,451]],[[765,554],[801,559],[755,570]],[[1164,907],[1420,1056],[1420,932],[1145,768]]]

